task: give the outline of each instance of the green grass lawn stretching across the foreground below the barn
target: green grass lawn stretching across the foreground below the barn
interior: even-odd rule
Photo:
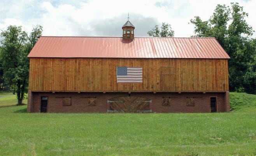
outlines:
[[[149,114],[0,107],[0,155],[256,155],[256,112],[248,111],[255,107],[239,102],[230,113]]]

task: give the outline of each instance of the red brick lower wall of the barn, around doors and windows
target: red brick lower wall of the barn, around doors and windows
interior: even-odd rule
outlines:
[[[227,93],[131,93],[130,96],[146,97],[152,100],[149,109],[152,112],[210,112],[210,97],[217,98],[217,112],[229,111],[229,96]],[[40,112],[40,98],[48,98],[47,112],[82,113],[101,112],[109,110],[108,99],[117,96],[129,96],[128,93],[49,93],[28,92],[28,112]],[[63,106],[63,97],[71,97],[71,106]],[[96,106],[88,105],[88,97],[96,97]],[[170,106],[162,106],[162,98],[170,97]],[[187,97],[195,98],[195,106],[187,106]]]

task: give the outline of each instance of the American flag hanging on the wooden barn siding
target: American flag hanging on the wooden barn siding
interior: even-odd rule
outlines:
[[[116,67],[117,83],[142,83],[142,67]]]

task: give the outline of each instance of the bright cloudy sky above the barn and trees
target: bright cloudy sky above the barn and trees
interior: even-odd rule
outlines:
[[[147,37],[162,22],[171,24],[174,37],[190,37],[195,34],[190,19],[206,21],[217,4],[231,2],[244,7],[256,30],[256,0],[0,0],[0,30],[16,25],[30,33],[40,24],[43,36],[121,37],[129,13],[135,37]]]

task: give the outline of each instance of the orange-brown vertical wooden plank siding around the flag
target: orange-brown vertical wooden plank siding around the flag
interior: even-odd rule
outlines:
[[[116,67],[142,67],[143,83],[117,84]],[[160,75],[160,67],[174,67]],[[30,58],[32,91],[228,91],[226,59]]]

